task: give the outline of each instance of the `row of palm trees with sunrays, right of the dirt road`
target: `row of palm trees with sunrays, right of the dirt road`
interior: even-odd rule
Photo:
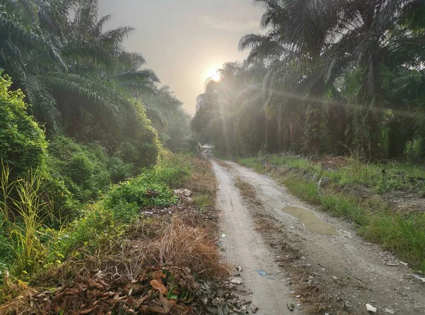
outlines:
[[[425,157],[425,1],[255,0],[264,34],[205,84],[191,126],[238,155]]]

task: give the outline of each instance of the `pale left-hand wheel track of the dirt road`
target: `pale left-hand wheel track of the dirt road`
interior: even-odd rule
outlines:
[[[225,167],[211,162],[218,181],[217,208],[222,211],[222,233],[225,234],[221,245],[229,262],[242,267],[241,277],[246,289],[238,286],[239,294],[245,294],[246,299],[251,299],[251,305],[259,307],[256,314],[301,314],[297,309],[288,309],[287,304],[296,301],[290,297],[290,288],[285,284],[273,253],[255,231],[232,176]]]

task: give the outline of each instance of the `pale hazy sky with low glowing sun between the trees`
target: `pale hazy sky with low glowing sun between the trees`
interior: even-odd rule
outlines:
[[[100,0],[99,6],[100,16],[113,14],[106,28],[137,29],[125,41],[128,50],[142,53],[191,115],[210,72],[246,57],[237,50],[239,38],[260,32],[262,13],[251,0]]]

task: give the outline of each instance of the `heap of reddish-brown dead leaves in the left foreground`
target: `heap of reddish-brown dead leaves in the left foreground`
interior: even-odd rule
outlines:
[[[98,271],[78,275],[55,293],[42,292],[23,303],[20,314],[190,314],[200,286],[190,270],[152,269],[137,280]]]

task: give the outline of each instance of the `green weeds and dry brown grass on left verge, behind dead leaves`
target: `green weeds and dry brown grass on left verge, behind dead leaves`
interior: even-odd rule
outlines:
[[[7,175],[4,165],[4,181]],[[131,275],[125,274],[129,278],[167,263],[190,267],[207,279],[226,272],[211,241],[214,224],[208,225],[202,217],[208,216],[215,199],[215,180],[208,161],[164,152],[157,165],[115,185],[99,201],[86,206],[80,219],[57,229],[47,226],[40,216],[48,212],[38,203],[42,178],[37,172],[32,178],[32,182],[21,179],[9,186],[17,185],[23,192],[19,194],[20,216],[12,219],[7,208],[2,208],[4,231],[9,231],[2,241],[11,249],[7,256],[7,250],[1,252],[2,302],[25,292],[27,284],[53,289],[81,272],[108,272],[114,266],[123,273],[132,268]],[[187,206],[172,192],[182,187],[193,192],[193,201]],[[202,197],[202,202],[197,197]],[[142,216],[142,211],[154,213],[164,208],[176,211],[177,216]]]

